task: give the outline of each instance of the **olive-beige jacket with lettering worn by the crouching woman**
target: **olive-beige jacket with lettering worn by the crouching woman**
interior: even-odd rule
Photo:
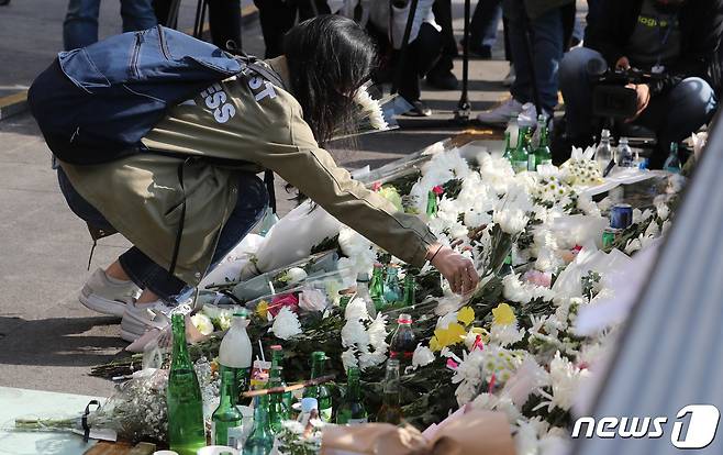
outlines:
[[[287,87],[286,59],[268,64]],[[341,222],[413,265],[422,265],[434,235],[413,215],[369,191],[319,147],[301,107],[286,90],[238,76],[174,108],[144,143],[176,154],[226,158],[221,166],[192,160],[183,184],[187,211],[175,275],[198,284],[219,233],[233,211],[237,170],[271,169]],[[169,268],[183,199],[178,178],[182,157],[138,154],[97,166],[63,163],[76,190],[156,264]]]

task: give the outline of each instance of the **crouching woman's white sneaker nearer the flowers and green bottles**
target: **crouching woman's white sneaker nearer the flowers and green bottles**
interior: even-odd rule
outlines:
[[[175,313],[190,314],[193,311],[189,304],[171,307],[160,300],[153,303],[133,302],[125,308],[121,320],[121,339],[133,343],[147,330],[159,329],[170,324],[170,317]]]

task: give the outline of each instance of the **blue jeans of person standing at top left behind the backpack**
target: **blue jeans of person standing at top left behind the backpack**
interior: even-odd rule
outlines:
[[[98,41],[99,13],[100,0],[70,0],[63,22],[63,45],[66,51]],[[151,0],[121,0],[121,18],[123,32],[151,29],[157,23]]]

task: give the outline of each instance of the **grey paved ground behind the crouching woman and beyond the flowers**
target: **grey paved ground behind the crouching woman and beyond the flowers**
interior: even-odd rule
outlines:
[[[116,2],[102,2],[101,34],[120,30]],[[183,3],[181,21],[192,24],[194,2]],[[460,4],[455,4],[461,16]],[[62,46],[65,2],[12,0],[0,7],[0,86],[26,87]],[[460,21],[456,26],[461,27]],[[460,34],[460,31],[457,31]],[[263,54],[256,23],[244,30],[244,48]],[[459,73],[461,63],[456,62]],[[504,95],[503,62],[471,63],[471,99],[480,110]],[[7,92],[7,91],[5,91]],[[1,96],[1,95],[0,95]],[[358,151],[333,151],[349,167],[378,166],[458,131],[452,118],[458,92],[425,90],[435,118],[405,122],[400,131],[366,136]],[[282,195],[282,193],[279,193]],[[119,320],[81,307],[76,296],[89,275],[90,238],[65,206],[49,154],[29,114],[0,122],[0,385],[108,395],[109,381],[89,377],[89,367],[125,346]],[[112,262],[127,243],[100,242],[92,267]]]

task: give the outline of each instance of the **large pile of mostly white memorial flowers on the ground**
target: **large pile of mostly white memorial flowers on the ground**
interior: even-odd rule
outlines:
[[[374,318],[362,299],[343,308],[338,290],[357,273],[369,273],[378,260],[397,260],[341,226],[321,248],[341,254],[334,273],[311,271],[315,259],[294,264],[280,275],[293,276],[292,289],[253,302],[248,333],[255,353],[262,355],[257,341],[262,346],[281,344],[287,382],[307,378],[312,351],[326,353],[327,370],[340,382],[346,367],[358,366],[365,403],[374,414],[393,321],[409,313],[419,344],[401,376],[408,422],[424,429],[458,409],[497,410],[508,415],[522,454],[564,443],[576,397],[619,331],[613,325],[583,336],[576,331],[577,318],[602,297],[614,296],[607,278],[621,260],[630,260],[625,253],[634,254],[665,233],[676,203],[675,195],[667,195],[652,209],[636,210],[633,224],[603,249],[611,203],[596,202],[585,192],[599,182],[592,166],[581,151],[565,166],[544,166],[537,173],[514,174],[500,156],[479,153],[470,160],[458,149],[436,153],[415,169],[402,164],[411,173],[370,186],[399,208],[424,217],[442,243],[467,255],[480,273],[478,289],[454,296],[430,266],[402,267],[402,275],[416,280],[412,306],[388,302]],[[436,203],[430,204],[430,198]],[[193,322],[205,332],[211,325],[213,331],[227,326],[226,310],[207,306],[199,314]],[[219,337],[211,336],[191,355],[213,357],[218,345]],[[100,366],[93,374],[127,373],[140,358]],[[289,429],[285,437],[293,439],[292,433]]]

